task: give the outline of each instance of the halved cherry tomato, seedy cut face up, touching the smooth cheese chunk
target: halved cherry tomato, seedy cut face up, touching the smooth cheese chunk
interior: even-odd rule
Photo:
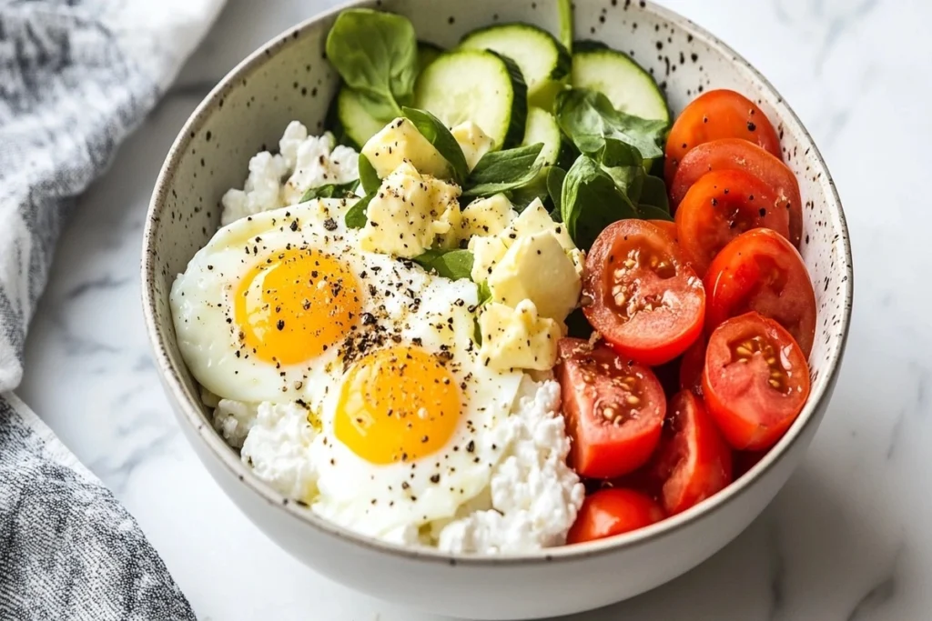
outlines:
[[[706,292],[669,236],[643,220],[621,220],[586,258],[583,313],[625,358],[663,364],[702,331]]]

